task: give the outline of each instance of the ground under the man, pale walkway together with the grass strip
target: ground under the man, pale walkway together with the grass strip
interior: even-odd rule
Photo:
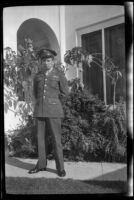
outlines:
[[[28,174],[37,159],[6,155],[5,175],[8,194],[122,194],[127,191],[127,166],[119,163],[65,162],[67,175],[58,177],[54,160],[47,171]]]

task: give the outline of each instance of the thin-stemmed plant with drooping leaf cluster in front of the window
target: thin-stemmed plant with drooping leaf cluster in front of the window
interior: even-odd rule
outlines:
[[[80,68],[81,71],[83,70],[84,62],[86,62],[89,67],[92,67],[92,63],[95,63],[101,70],[105,70],[106,75],[110,77],[111,84],[113,85],[113,105],[115,107],[116,85],[118,79],[122,77],[122,73],[111,58],[108,56],[103,58],[102,53],[89,54],[89,52],[82,47],[74,47],[71,50],[66,51],[64,61],[67,65],[73,65]]]

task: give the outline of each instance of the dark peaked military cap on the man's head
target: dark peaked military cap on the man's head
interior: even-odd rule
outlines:
[[[51,49],[40,49],[37,52],[37,58],[44,59],[44,58],[53,58],[54,56],[57,56],[57,53],[54,50]]]

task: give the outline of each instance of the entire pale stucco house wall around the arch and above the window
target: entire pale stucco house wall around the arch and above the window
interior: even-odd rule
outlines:
[[[76,46],[76,29],[124,14],[122,6],[21,6],[3,10],[4,47],[17,49],[17,30],[27,19],[37,18],[46,22],[55,32],[61,47],[61,57],[66,50]],[[68,79],[76,77],[76,69],[70,67]],[[13,113],[5,116],[5,130],[16,126],[19,119]],[[14,123],[13,123],[14,122]]]

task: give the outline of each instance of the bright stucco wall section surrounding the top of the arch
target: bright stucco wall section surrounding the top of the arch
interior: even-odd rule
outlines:
[[[27,19],[37,18],[46,22],[59,37],[59,6],[17,6],[3,10],[3,42],[16,51],[17,30]]]

